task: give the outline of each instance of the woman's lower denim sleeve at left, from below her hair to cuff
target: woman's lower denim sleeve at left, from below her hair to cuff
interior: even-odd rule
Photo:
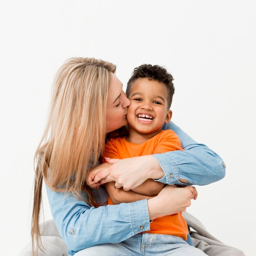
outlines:
[[[95,208],[77,200],[72,193],[46,188],[54,222],[71,255],[94,245],[119,243],[150,230],[146,199]],[[83,197],[88,199],[85,193]]]

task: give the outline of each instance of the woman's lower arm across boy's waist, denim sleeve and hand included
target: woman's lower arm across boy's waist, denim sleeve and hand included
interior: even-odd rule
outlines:
[[[94,193],[99,203],[108,200],[106,189],[102,186]],[[185,211],[194,198],[195,189],[165,186],[159,195],[149,200],[98,208],[77,200],[72,193],[60,193],[47,187],[47,195],[56,227],[68,246],[68,254],[73,255],[81,249],[119,243],[150,230],[149,220]],[[88,199],[85,193],[82,196]]]

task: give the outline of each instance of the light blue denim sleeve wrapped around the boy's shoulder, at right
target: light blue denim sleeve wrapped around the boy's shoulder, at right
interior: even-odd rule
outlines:
[[[173,122],[163,130],[171,129],[180,138],[182,150],[153,155],[164,170],[164,177],[157,180],[165,184],[207,185],[225,176],[226,165],[213,150],[194,141]],[[185,179],[184,184],[179,179]]]

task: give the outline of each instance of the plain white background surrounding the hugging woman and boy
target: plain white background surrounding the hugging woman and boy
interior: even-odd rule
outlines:
[[[157,3],[156,3],[157,2]],[[189,208],[222,242],[255,255],[256,15],[254,1],[8,1],[1,7],[1,255],[29,242],[33,157],[54,74],[74,56],[175,79],[173,121],[227,165]],[[52,218],[44,191],[45,219]]]

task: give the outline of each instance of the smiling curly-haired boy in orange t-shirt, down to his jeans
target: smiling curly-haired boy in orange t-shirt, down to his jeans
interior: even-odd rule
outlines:
[[[104,157],[124,159],[183,150],[175,132],[161,130],[172,117],[169,110],[174,93],[172,81],[173,77],[163,67],[144,64],[135,68],[126,89],[131,101],[127,112],[129,135],[106,143],[103,162]],[[149,199],[157,195],[164,185],[149,179],[135,189],[124,191],[116,189],[115,182],[109,182],[106,184],[110,196],[108,204]],[[181,212],[153,220],[150,231],[146,232],[178,236],[184,240],[189,233]]]

